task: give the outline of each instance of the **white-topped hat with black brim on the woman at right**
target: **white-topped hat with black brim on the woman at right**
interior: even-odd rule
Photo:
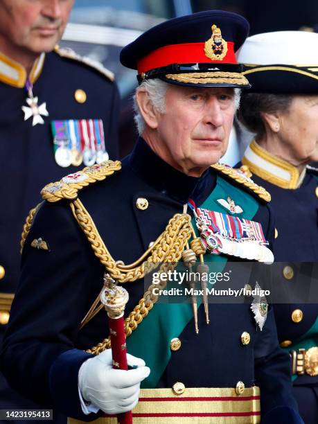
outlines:
[[[276,31],[248,37],[238,51],[251,91],[318,93],[318,34]]]

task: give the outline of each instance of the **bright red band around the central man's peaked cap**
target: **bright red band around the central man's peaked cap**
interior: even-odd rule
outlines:
[[[231,63],[236,64],[234,43],[227,42],[227,54],[222,60],[211,60],[204,53],[205,43],[170,44],[157,48],[138,61],[138,73],[166,67],[173,63]]]

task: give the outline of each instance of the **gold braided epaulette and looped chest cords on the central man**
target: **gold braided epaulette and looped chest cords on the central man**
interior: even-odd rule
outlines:
[[[200,256],[202,262],[205,249],[202,248],[200,239],[196,238],[195,231],[191,224],[191,216],[186,213],[177,213],[171,218],[163,233],[154,241],[154,244],[149,247],[145,253],[137,259],[134,263],[125,265],[121,260],[114,260],[109,253],[105,243],[103,242],[96,225],[85,206],[78,199],[78,191],[85,186],[97,181],[102,181],[109,175],[121,169],[121,162],[119,161],[105,161],[103,164],[89,166],[82,171],[67,175],[60,180],[45,186],[41,192],[42,198],[48,202],[58,202],[62,199],[71,200],[71,211],[80,225],[80,228],[85,233],[95,256],[105,266],[106,272],[118,283],[127,283],[143,279],[145,274],[159,267],[159,273],[173,270],[179,260],[183,258],[187,263],[187,257],[184,254],[189,251],[188,240],[193,236],[191,242],[192,255]],[[35,215],[36,208],[30,211],[26,224],[24,226],[24,233],[22,234],[21,245],[24,245],[30,225]],[[188,249],[188,250],[185,250]],[[143,298],[135,306],[134,310],[125,319],[125,333],[128,337],[132,331],[136,330],[144,317],[157,302],[158,296],[152,293],[152,289],[157,287],[159,289],[165,288],[167,282],[160,281],[159,284],[152,284],[148,290],[143,294]],[[81,326],[85,326],[101,309],[103,305],[100,304],[100,296],[96,298],[93,305],[82,319]],[[97,346],[89,349],[87,352],[98,355],[105,349],[110,348],[110,337],[104,339],[103,342]]]

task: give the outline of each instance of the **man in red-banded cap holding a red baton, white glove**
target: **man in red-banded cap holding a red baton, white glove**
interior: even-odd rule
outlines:
[[[206,48],[213,25],[222,59]],[[217,163],[238,89],[249,87],[234,55],[248,30],[239,15],[212,10],[166,21],[124,48],[121,62],[138,69],[140,82],[134,151],[122,164],[48,184],[46,202],[27,220],[1,366],[12,387],[71,423],[135,406],[139,423],[303,422],[264,297],[210,308],[203,299],[197,308],[195,298],[167,303],[154,292],[169,287],[162,267],[181,259],[191,269],[198,256],[201,271],[209,263],[221,274],[229,256],[272,260],[268,193]],[[159,283],[145,287],[156,264]],[[135,369],[112,369],[99,306],[104,274],[130,295],[125,332]]]

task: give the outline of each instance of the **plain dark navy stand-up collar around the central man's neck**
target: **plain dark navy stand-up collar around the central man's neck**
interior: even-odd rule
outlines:
[[[206,170],[201,177],[189,177],[163,161],[145,141],[139,137],[129,157],[134,172],[157,191],[181,203],[189,198],[205,197],[215,186],[215,177]]]

